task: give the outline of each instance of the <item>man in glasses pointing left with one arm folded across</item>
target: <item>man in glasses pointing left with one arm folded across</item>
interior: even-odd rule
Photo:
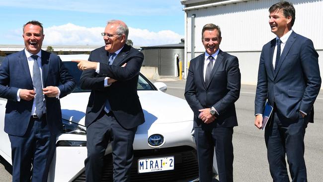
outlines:
[[[76,61],[84,70],[81,88],[92,90],[85,115],[86,182],[101,181],[109,142],[113,150],[113,181],[130,182],[132,145],[137,126],[145,118],[137,94],[144,55],[125,44],[128,32],[124,22],[109,21],[102,33],[105,46],[92,51],[89,61]]]

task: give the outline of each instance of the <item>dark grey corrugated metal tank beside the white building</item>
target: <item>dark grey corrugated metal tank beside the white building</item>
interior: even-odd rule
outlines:
[[[178,54],[179,61],[182,62],[182,69],[184,69],[184,48],[154,47],[143,49],[142,52],[145,56],[143,66],[158,67],[160,76],[175,76],[175,69],[177,69],[174,62],[175,54]]]

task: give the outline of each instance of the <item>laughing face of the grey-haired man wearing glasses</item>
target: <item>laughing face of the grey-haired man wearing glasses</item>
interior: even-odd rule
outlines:
[[[104,33],[111,35],[111,37],[103,36],[105,47],[104,49],[109,53],[114,53],[119,50],[122,46],[125,45],[125,35],[118,35],[117,28],[119,24],[117,23],[110,23],[107,24]]]

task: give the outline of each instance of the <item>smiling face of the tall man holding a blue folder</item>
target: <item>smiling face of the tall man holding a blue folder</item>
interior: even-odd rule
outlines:
[[[292,16],[285,17],[283,10],[277,9],[269,14],[269,25],[271,32],[279,38],[291,30]]]

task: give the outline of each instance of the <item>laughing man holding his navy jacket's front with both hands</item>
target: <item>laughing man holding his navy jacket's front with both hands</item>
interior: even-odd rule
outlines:
[[[5,57],[0,66],[12,181],[29,182],[32,177],[33,182],[47,182],[56,137],[62,131],[59,98],[71,93],[76,82],[57,55],[41,50],[44,34],[40,22],[27,22],[22,37],[25,49]],[[40,87],[35,85],[37,79]]]

